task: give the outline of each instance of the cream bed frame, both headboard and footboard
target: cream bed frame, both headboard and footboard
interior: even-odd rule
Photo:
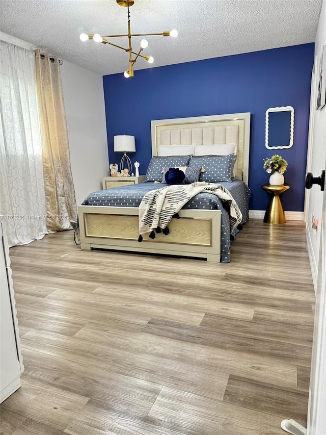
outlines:
[[[248,184],[250,113],[151,121],[152,155],[159,145],[209,145],[236,142],[236,178]],[[220,262],[221,212],[181,210],[170,234],[138,242],[138,208],[79,206],[80,247],[181,255]]]

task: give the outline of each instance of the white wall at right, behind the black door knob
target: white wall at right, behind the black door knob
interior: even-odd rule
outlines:
[[[312,89],[311,98],[311,153],[308,155],[308,172],[312,172],[314,176],[319,176],[325,168],[326,160],[326,106],[321,110],[316,110],[316,94],[318,86],[318,62],[322,53],[322,46],[326,45],[326,1],[323,0],[318,30],[315,40],[315,75],[316,80],[314,89]],[[326,71],[323,71],[324,79],[326,79]],[[321,233],[321,212],[322,212],[322,192],[319,186],[314,186],[310,191],[306,191],[308,195],[308,213],[307,213],[307,240],[314,285],[316,289],[317,270],[319,261],[319,246]],[[319,219],[317,232],[312,228],[311,217],[314,214]]]

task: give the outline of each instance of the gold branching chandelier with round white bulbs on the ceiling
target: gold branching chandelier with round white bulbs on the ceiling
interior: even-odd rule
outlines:
[[[132,46],[131,46],[131,37],[132,36],[156,36],[156,35],[162,35],[162,36],[172,36],[173,38],[176,38],[178,36],[178,32],[176,30],[172,30],[171,32],[162,32],[162,33],[131,33],[130,30],[130,12],[129,12],[129,7],[133,5],[134,0],[117,0],[118,5],[120,6],[124,6],[126,8],[128,8],[128,33],[126,35],[99,35],[98,33],[95,33],[94,35],[87,35],[86,33],[82,33],[80,35],[80,40],[82,40],[83,42],[87,41],[88,39],[93,39],[95,42],[101,42],[102,44],[110,44],[113,45],[114,47],[117,48],[121,48],[122,50],[124,50],[126,53],[129,53],[129,68],[124,72],[124,76],[125,78],[128,77],[133,77],[133,65],[137,62],[137,59],[139,57],[145,59],[148,63],[153,63],[154,59],[152,58],[152,56],[146,56],[146,55],[142,55],[142,51],[144,48],[147,47],[148,42],[146,39],[142,39],[141,43],[140,43],[140,48],[138,50],[138,53],[135,53],[132,50]],[[107,40],[107,38],[120,38],[122,36],[127,36],[128,37],[128,47],[121,47],[120,45],[114,44],[113,42],[110,42]],[[132,55],[134,55],[135,57],[133,58]]]

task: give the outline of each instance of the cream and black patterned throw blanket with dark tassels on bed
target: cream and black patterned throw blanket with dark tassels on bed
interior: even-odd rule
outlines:
[[[241,222],[242,214],[231,193],[221,184],[197,182],[178,184],[147,192],[139,206],[139,234],[152,232],[157,227],[164,229],[184,204],[198,193],[212,193],[229,202],[230,231]]]

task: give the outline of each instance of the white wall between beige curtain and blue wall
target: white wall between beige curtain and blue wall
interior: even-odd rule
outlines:
[[[61,79],[77,205],[108,174],[102,76],[64,60]]]

